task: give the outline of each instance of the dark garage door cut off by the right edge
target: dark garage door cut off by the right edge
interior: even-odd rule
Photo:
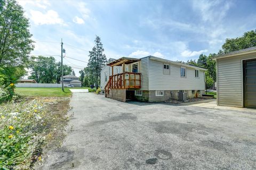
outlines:
[[[244,107],[256,108],[256,59],[246,60],[244,67]]]

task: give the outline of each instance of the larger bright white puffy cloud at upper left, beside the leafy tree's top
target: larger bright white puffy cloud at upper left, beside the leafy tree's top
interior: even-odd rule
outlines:
[[[59,18],[59,14],[56,11],[49,10],[45,14],[43,14],[40,11],[34,11],[30,10],[31,14],[31,20],[36,24],[36,25],[43,25],[43,24],[61,24],[61,25],[66,25],[64,21]]]

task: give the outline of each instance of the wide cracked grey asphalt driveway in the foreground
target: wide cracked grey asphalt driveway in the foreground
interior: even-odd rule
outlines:
[[[256,114],[74,92],[63,145],[37,169],[256,169]]]

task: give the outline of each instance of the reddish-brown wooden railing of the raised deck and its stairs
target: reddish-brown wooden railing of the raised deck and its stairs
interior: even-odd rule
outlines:
[[[124,72],[109,76],[105,93],[109,94],[109,89],[139,89],[140,87],[141,73]]]

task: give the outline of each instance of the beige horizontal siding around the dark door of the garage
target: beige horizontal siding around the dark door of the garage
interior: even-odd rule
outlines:
[[[243,107],[243,64],[242,60],[256,58],[240,55],[217,58],[218,105]]]

